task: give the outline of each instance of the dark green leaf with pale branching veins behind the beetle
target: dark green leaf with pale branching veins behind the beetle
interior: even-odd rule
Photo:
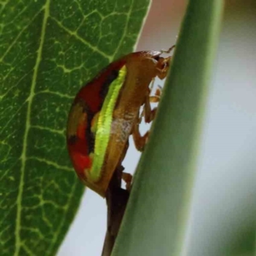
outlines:
[[[1,3],[1,255],[60,246],[84,191],[66,149],[73,96],[131,52],[148,2]]]

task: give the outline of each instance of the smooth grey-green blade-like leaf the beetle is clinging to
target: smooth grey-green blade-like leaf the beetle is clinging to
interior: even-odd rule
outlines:
[[[184,250],[222,8],[221,0],[189,1],[114,256],[181,255]]]

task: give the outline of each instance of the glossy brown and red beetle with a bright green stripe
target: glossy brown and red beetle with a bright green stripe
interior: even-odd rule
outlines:
[[[150,123],[160,96],[150,96],[156,77],[165,79],[171,56],[168,50],[140,51],[113,61],[79,90],[67,120],[67,148],[73,168],[84,184],[105,197],[114,170],[121,164],[132,135],[142,151],[148,132],[141,136],[142,118]],[[140,108],[143,106],[143,113]],[[128,182],[129,176],[124,175]]]

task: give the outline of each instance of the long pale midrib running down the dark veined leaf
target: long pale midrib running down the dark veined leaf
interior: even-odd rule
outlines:
[[[27,138],[28,138],[28,132],[31,127],[31,110],[32,110],[32,100],[35,96],[35,87],[36,87],[36,81],[38,77],[38,69],[39,64],[42,59],[42,52],[43,52],[43,45],[44,45],[44,38],[45,38],[45,31],[46,31],[46,23],[49,18],[49,0],[46,0],[46,3],[44,4],[44,7],[42,11],[44,10],[44,19],[43,19],[43,25],[41,30],[41,40],[38,47],[38,56],[36,59],[34,72],[32,74],[32,84],[31,84],[31,90],[30,94],[27,97],[27,110],[26,110],[26,125],[25,125],[25,132],[23,137],[23,147],[20,154],[20,160],[21,160],[21,167],[20,167],[20,185],[18,189],[18,196],[17,196],[17,215],[16,215],[16,225],[15,225],[15,256],[18,256],[20,253],[20,218],[21,218],[21,201],[22,201],[22,195],[23,195],[23,187],[24,187],[24,177],[25,177],[25,170],[26,170],[26,147],[27,147]]]

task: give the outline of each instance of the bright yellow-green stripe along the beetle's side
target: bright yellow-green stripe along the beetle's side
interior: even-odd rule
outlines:
[[[103,102],[102,110],[99,114],[96,125],[96,140],[94,154],[90,154],[93,159],[90,169],[85,169],[86,176],[91,181],[97,182],[102,176],[102,165],[104,164],[105,155],[110,138],[111,125],[113,120],[113,110],[119,97],[126,76],[126,67],[119,70],[119,75],[109,86],[108,94]]]

